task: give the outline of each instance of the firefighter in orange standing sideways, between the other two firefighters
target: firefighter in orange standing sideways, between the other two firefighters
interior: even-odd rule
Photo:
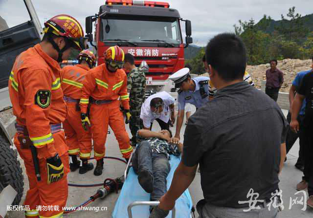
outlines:
[[[78,65],[68,65],[61,71],[64,100],[67,103],[67,119],[63,122],[68,154],[70,156],[69,169],[71,172],[79,168],[80,174],[93,169],[88,163],[91,152],[91,132],[84,131],[80,120],[79,100],[82,95],[83,80],[88,70],[96,64],[96,57],[89,50],[83,50],[78,55]],[[83,164],[77,160],[77,154]]]

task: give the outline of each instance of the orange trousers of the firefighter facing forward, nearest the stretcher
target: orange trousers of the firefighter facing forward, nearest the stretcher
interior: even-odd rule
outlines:
[[[109,125],[114,132],[123,157],[130,157],[133,147],[130,145],[129,135],[125,129],[124,117],[119,109],[119,101],[115,100],[104,105],[91,104],[90,123],[94,158],[96,160],[100,160],[105,156],[105,143]]]

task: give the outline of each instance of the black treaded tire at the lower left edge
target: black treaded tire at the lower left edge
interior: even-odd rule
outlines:
[[[12,205],[19,205],[24,191],[21,164],[9,142],[0,135],[0,192],[8,185],[18,193]]]

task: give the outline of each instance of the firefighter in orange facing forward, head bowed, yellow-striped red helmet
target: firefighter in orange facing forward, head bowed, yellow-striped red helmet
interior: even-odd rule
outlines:
[[[127,94],[127,76],[122,69],[124,52],[118,46],[105,51],[106,63],[91,69],[83,81],[83,93],[80,99],[82,124],[86,128],[91,124],[94,157],[97,160],[94,175],[103,171],[103,157],[108,125],[118,141],[120,152],[128,161],[133,147],[126,132],[123,114],[120,111],[120,98],[126,110],[126,119],[130,119],[129,97]],[[90,104],[90,122],[87,106]]]

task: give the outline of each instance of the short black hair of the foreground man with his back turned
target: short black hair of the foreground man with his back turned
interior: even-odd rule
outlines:
[[[246,46],[234,33],[222,33],[206,45],[205,59],[224,81],[242,79],[246,71]]]

